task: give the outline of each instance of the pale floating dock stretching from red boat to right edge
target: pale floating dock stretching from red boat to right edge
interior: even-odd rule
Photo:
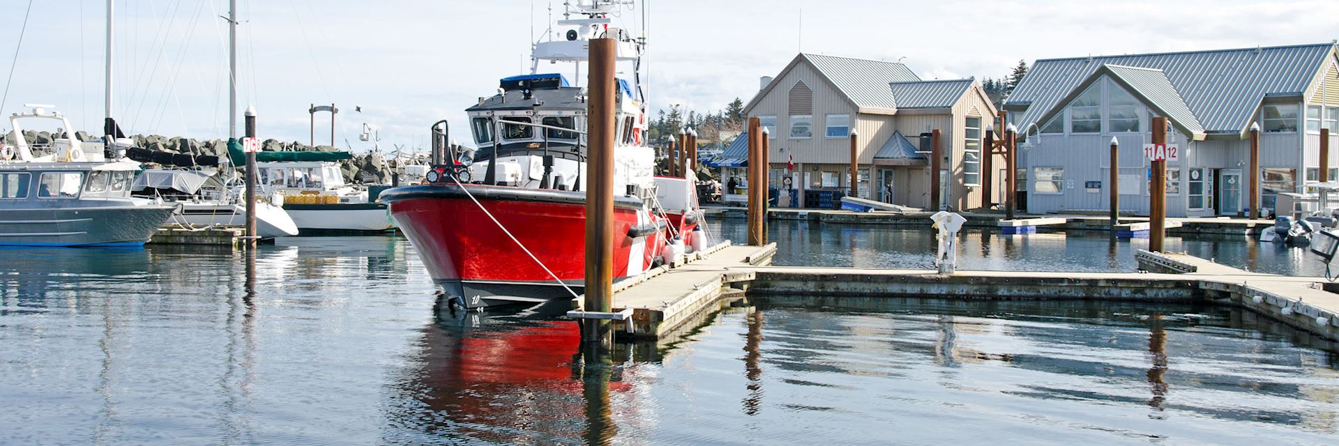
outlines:
[[[1241,307],[1339,342],[1339,287],[1322,277],[1252,273],[1186,254],[1141,252],[1156,272],[1082,273],[771,267],[775,244],[718,245],[672,269],[615,284],[613,309],[632,309],[621,336],[672,342],[746,295],[936,297],[972,300],[1202,301]],[[577,300],[580,303],[580,300]]]

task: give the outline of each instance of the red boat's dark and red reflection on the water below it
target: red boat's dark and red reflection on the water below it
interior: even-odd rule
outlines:
[[[577,323],[552,320],[549,309],[449,308],[443,300],[422,329],[422,351],[390,410],[402,430],[387,439],[604,445],[619,435],[612,407],[639,410],[631,346],[582,354]]]

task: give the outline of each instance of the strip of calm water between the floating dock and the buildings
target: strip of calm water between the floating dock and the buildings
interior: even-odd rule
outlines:
[[[743,218],[714,218],[716,236],[749,240]],[[929,225],[927,224],[927,228]],[[778,265],[933,269],[935,232],[897,225],[825,225],[771,221]],[[1105,232],[1002,236],[968,228],[959,237],[959,269],[1133,272],[1134,252],[1148,238],[1111,241]],[[1263,244],[1245,236],[1168,237],[1168,252],[1185,252],[1255,272],[1322,276],[1319,257],[1300,248]]]

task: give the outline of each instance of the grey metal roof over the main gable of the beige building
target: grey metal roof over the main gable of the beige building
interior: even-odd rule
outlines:
[[[837,91],[840,91],[846,100],[860,108],[880,108],[880,110],[894,110],[897,108],[897,102],[893,99],[893,92],[888,88],[890,82],[911,82],[920,80],[911,68],[896,62],[882,62],[882,60],[868,60],[868,59],[852,59],[852,58],[837,58],[825,56],[817,54],[801,52],[795,56],[786,68],[781,70],[777,75],[777,80],[773,80],[767,87],[763,87],[744,110],[753,110],[762,100],[771,88],[775,88],[781,78],[785,78],[790,70],[793,70],[801,62],[809,63],[814,67],[828,83],[830,83]]]

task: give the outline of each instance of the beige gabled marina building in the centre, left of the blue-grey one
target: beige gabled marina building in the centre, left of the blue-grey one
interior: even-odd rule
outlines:
[[[771,185],[797,196],[797,205],[806,205],[806,192],[849,193],[856,135],[861,198],[929,208],[935,130],[943,155],[940,206],[981,205],[983,126],[996,111],[973,79],[923,80],[896,62],[799,54],[762,78],[744,113],[769,131]],[[746,142],[747,135],[727,147],[722,165],[742,165]]]

